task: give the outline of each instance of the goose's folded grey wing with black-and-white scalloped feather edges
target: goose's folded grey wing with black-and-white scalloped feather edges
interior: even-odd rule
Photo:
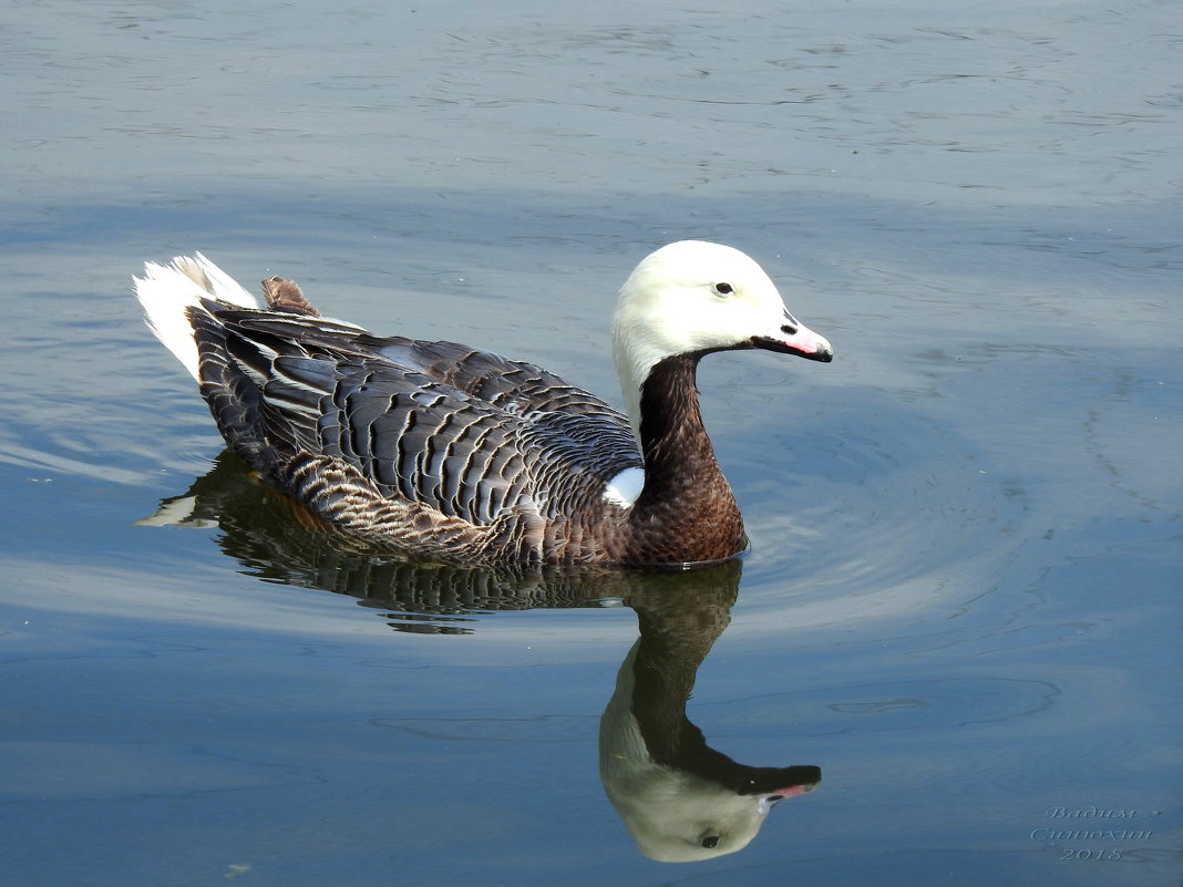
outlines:
[[[247,461],[340,459],[387,498],[487,525],[552,517],[640,465],[627,420],[528,363],[318,317],[203,305],[203,394]]]

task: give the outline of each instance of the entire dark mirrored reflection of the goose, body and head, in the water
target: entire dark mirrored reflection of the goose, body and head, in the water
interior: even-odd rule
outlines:
[[[218,526],[222,550],[271,582],[349,595],[400,632],[471,632],[489,610],[623,601],[640,637],[600,721],[600,776],[640,850],[690,862],[743,849],[777,802],[812,791],[816,766],[748,766],[710,747],[686,717],[698,667],[730,621],[742,563],[692,571],[496,574],[349,550],[224,453],[143,524]]]

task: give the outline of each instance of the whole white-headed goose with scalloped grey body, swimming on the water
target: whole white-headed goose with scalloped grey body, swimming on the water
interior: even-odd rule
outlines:
[[[699,412],[698,362],[765,349],[829,362],[759,265],[685,240],[621,287],[625,410],[521,361],[375,336],[299,286],[265,304],[201,253],[134,277],[151,331],[266,485],[367,544],[473,566],[686,566],[746,549]]]

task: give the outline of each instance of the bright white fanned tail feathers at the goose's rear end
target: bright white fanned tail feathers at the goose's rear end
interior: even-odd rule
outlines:
[[[259,307],[251,293],[201,253],[177,255],[168,265],[144,263],[144,276],[132,281],[148,328],[194,378],[198,347],[186,311],[211,297],[240,307]]]

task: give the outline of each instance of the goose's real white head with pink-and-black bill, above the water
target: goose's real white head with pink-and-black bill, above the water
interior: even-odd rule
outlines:
[[[629,416],[657,363],[674,355],[767,348],[828,361],[829,343],[784,307],[776,284],[738,250],[700,240],[664,246],[620,290],[613,357]]]

